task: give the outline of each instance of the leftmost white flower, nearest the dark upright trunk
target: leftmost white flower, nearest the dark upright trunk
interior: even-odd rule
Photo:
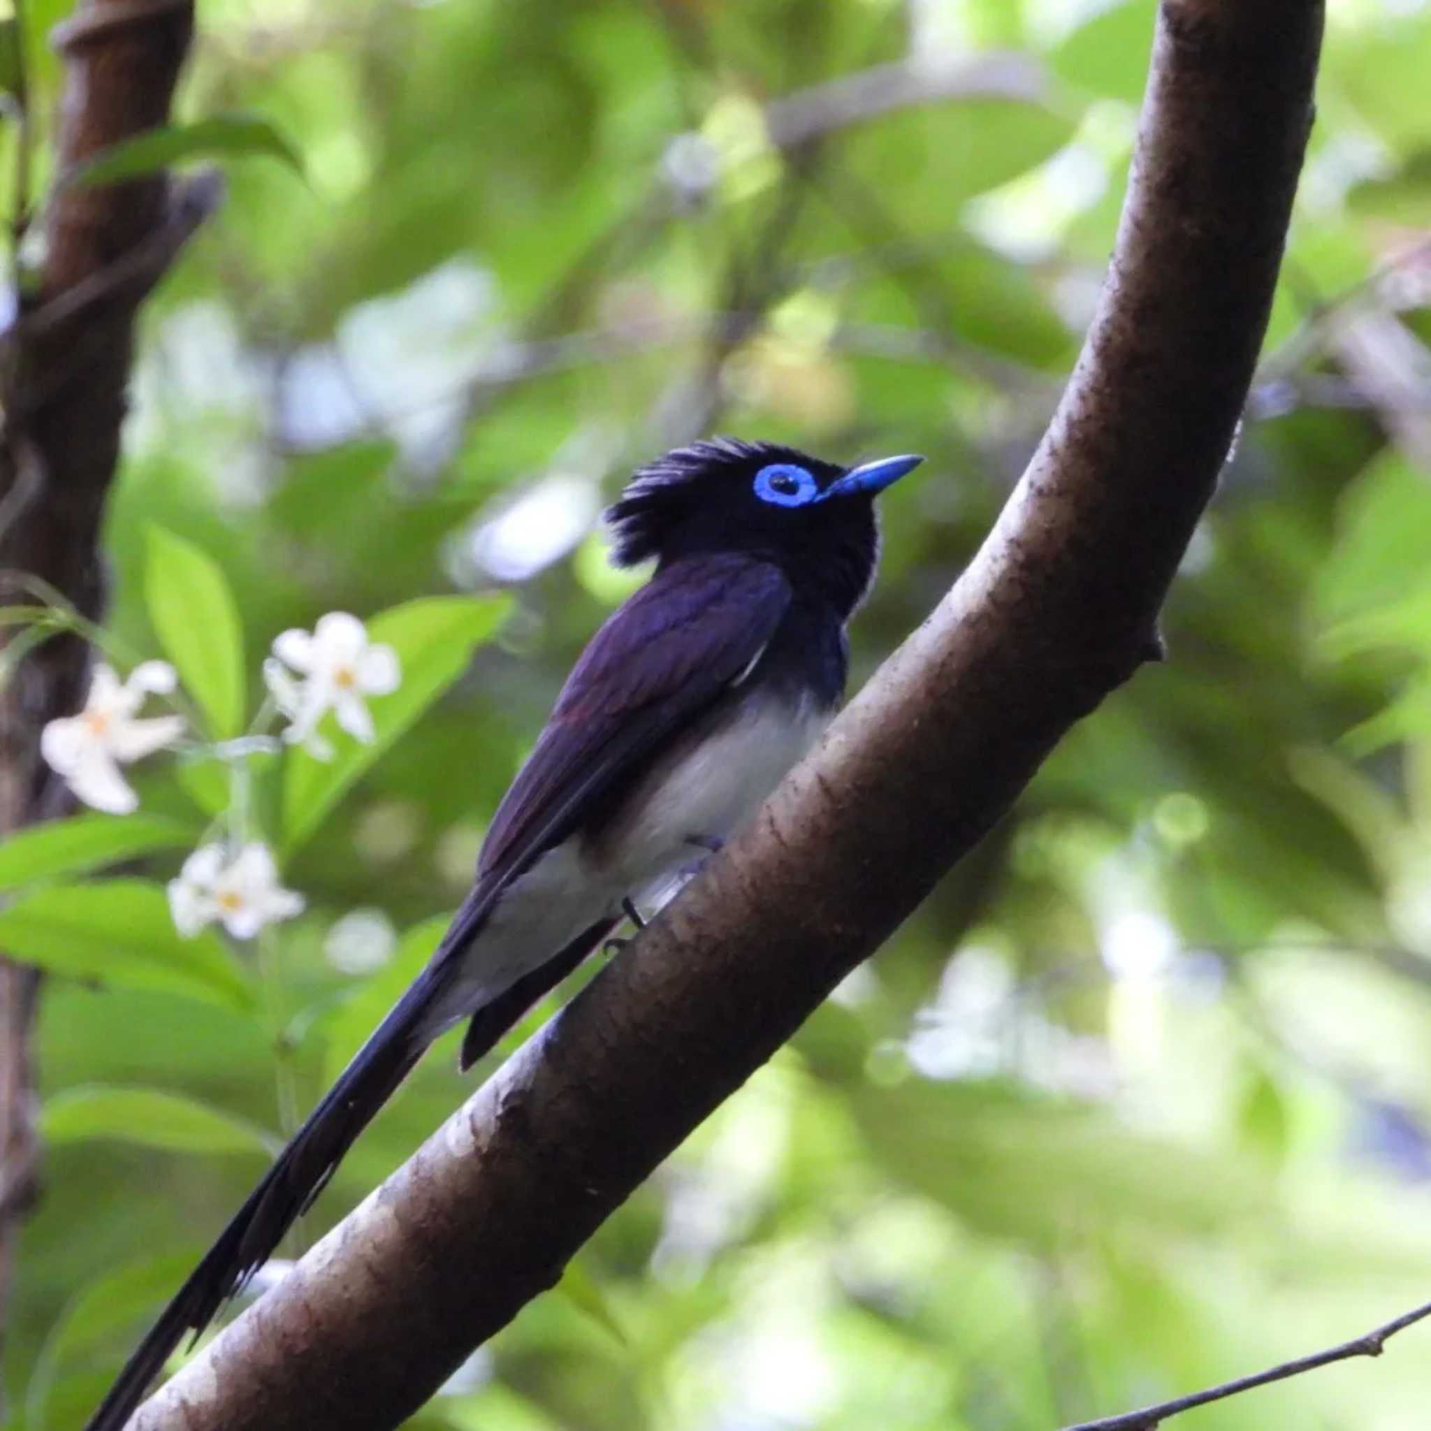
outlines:
[[[167,695],[176,680],[167,661],[145,661],[126,681],[100,661],[90,677],[84,710],[49,721],[40,733],[44,763],[84,804],[129,814],[139,797],[119,773],[120,764],[143,760],[183,733],[182,716],[136,720],[136,713],[146,695]]]

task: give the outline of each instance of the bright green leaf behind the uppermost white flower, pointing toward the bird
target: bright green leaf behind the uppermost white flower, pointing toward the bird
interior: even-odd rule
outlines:
[[[332,760],[315,760],[302,750],[289,753],[285,856],[303,844],[372,763],[467,670],[472,647],[497,630],[508,605],[507,597],[426,597],[373,617],[368,633],[373,643],[398,653],[402,684],[372,701],[376,734],[369,744],[339,734]]]

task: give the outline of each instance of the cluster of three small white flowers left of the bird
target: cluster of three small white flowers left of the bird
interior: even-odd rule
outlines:
[[[331,611],[312,631],[285,631],[263,663],[269,710],[288,721],[283,740],[321,760],[333,754],[332,744],[318,734],[323,717],[332,711],[341,730],[369,743],[376,728],[368,698],[391,694],[399,680],[392,647],[369,641],[362,621],[345,611]],[[113,667],[96,664],[83,710],[44,727],[40,754],[84,804],[112,814],[132,813],[139,797],[120,767],[177,746],[186,730],[183,716],[142,718],[139,710],[150,695],[173,695],[177,684],[167,661],[145,661],[124,680]],[[250,750],[265,746],[270,746],[269,738],[256,730],[239,741],[196,748],[236,767]],[[200,844],[169,881],[169,909],[186,937],[220,923],[235,939],[252,939],[266,924],[303,909],[303,897],[280,883],[272,850],[246,829],[246,804],[236,798],[225,839]],[[353,963],[375,959],[381,962],[369,949]]]

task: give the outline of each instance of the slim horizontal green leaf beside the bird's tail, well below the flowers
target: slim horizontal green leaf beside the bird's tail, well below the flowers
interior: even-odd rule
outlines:
[[[189,1153],[266,1153],[278,1141],[253,1123],[179,1093],[90,1083],[56,1093],[40,1109],[40,1132],[52,1143],[114,1138]]]

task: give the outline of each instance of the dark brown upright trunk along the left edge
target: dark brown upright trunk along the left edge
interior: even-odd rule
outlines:
[[[163,124],[189,46],[189,0],[90,0],[54,36],[66,62],[57,172]],[[31,601],[39,577],[82,614],[103,605],[99,528],[119,458],[135,316],[179,245],[213,206],[212,180],[162,175],[103,189],[56,187],[43,216],[39,290],[4,335],[0,601]],[[82,700],[89,657],[64,637],[0,685],[0,837],[66,810],[39,758],[47,720]],[[20,1213],[36,1195],[30,1030],[39,976],[0,957],[0,1328]]]

